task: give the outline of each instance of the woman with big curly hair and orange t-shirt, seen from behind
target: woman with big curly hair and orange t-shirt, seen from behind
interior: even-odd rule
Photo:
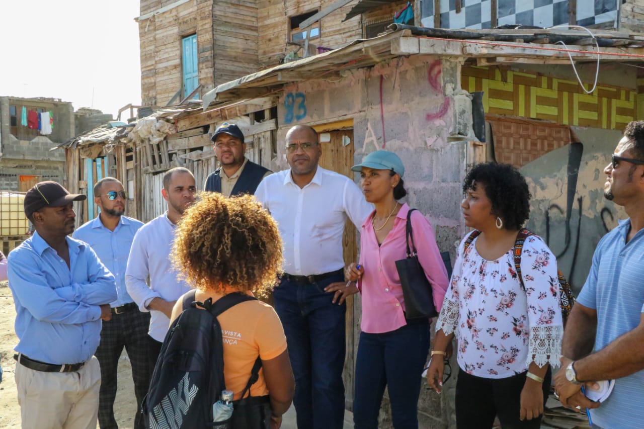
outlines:
[[[212,298],[214,302],[236,292],[263,295],[281,269],[281,249],[275,221],[254,197],[203,193],[176,229],[172,258],[180,275],[196,287],[196,301]],[[171,321],[181,312],[182,298]],[[218,321],[224,339],[226,388],[234,392],[235,401],[240,399],[259,356],[262,370],[250,396],[268,396],[270,428],[279,428],[295,382],[278,315],[270,305],[251,300],[226,310]]]

